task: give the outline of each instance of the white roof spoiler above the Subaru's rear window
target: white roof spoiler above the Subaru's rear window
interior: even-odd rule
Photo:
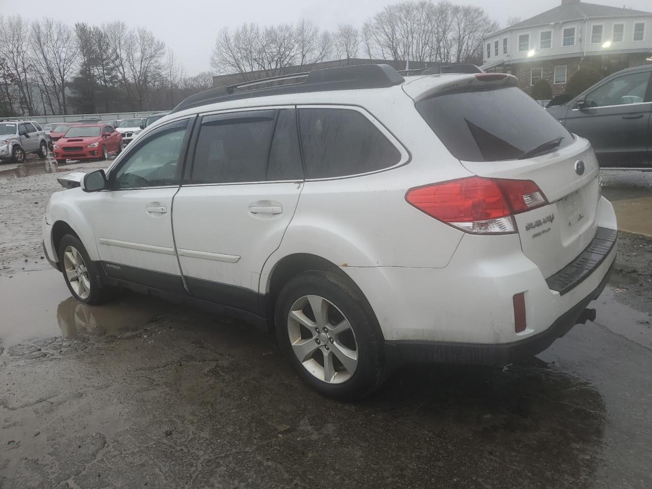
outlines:
[[[447,78],[441,75],[425,76],[414,82],[404,83],[403,90],[415,102],[448,93],[473,92],[486,89],[518,86],[514,75],[505,73],[475,73]]]

